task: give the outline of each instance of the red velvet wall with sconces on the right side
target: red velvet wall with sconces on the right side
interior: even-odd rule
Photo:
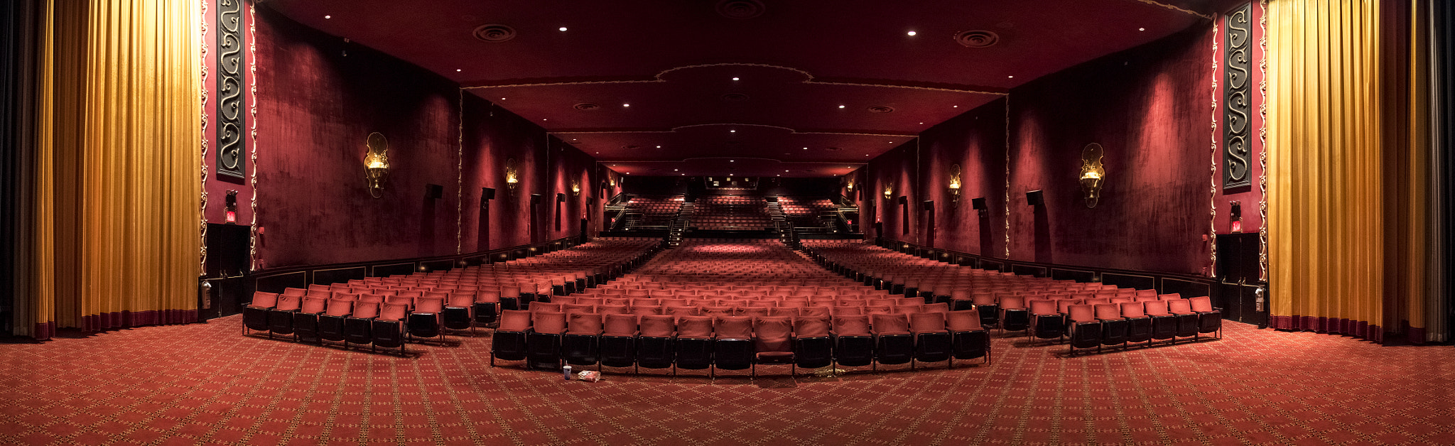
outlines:
[[[1008,150],[1011,259],[1203,273],[1213,200],[1211,28],[1037,78],[1011,90],[1008,110],[1005,100],[988,103],[874,158],[866,192],[882,206],[883,235],[1004,257]],[[1096,208],[1084,205],[1078,182],[1088,142],[1106,148],[1107,180]],[[950,164],[962,166],[959,206],[947,190]],[[888,180],[914,206],[909,234],[898,208],[883,206]],[[1046,205],[1026,205],[1027,190],[1043,190]],[[979,196],[989,206],[985,218],[970,209]],[[934,234],[918,219],[925,199],[936,202]],[[1254,198],[1244,215],[1256,209]]]

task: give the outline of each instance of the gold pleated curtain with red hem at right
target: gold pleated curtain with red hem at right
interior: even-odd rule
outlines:
[[[1419,58],[1400,1],[1269,4],[1275,328],[1423,337],[1429,141],[1411,110],[1427,103],[1407,100]]]

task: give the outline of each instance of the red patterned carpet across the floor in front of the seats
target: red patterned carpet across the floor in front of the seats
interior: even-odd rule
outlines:
[[[1227,338],[840,378],[490,368],[240,336],[240,317],[0,344],[6,445],[1455,445],[1455,349],[1228,324]],[[773,368],[786,373],[787,368]]]

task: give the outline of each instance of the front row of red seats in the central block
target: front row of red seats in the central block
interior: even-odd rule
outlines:
[[[751,369],[757,376],[758,365],[790,365],[796,373],[797,368],[989,362],[989,336],[973,311],[793,317],[618,308],[505,311],[490,365],[503,359],[525,360],[530,368],[671,368],[674,375],[678,369],[709,369],[709,375]]]

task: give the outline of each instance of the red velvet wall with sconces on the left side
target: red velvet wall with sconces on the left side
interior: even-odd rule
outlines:
[[[547,148],[544,129],[439,76],[259,9],[258,84],[266,267],[448,256],[579,232],[594,160],[560,141]],[[370,132],[390,142],[378,199],[364,182]],[[506,158],[519,163],[514,193]],[[570,196],[563,174],[583,179],[582,196]],[[444,198],[425,199],[425,185],[444,186]],[[480,187],[498,189],[485,240]],[[559,231],[556,192],[570,198]],[[531,193],[541,195],[534,228]]]

